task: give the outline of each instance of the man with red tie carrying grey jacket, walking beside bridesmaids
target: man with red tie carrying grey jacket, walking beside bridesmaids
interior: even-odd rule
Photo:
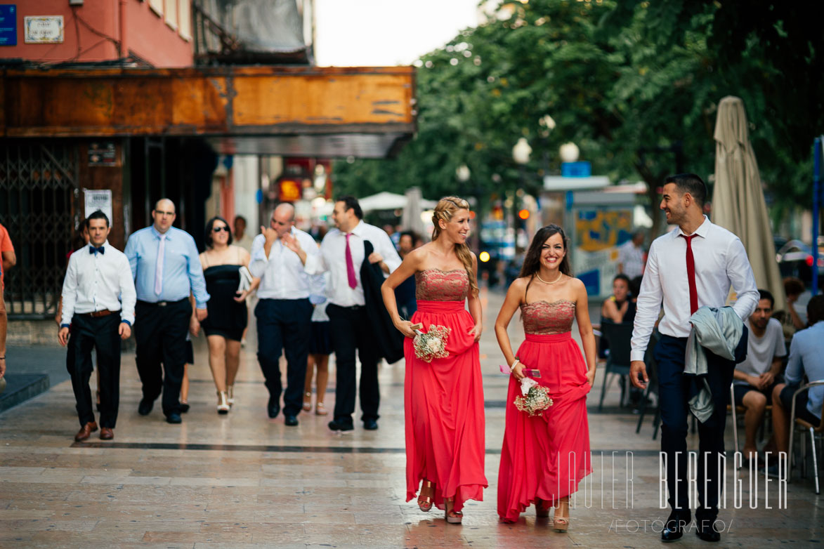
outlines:
[[[723,307],[730,286],[737,292],[733,309],[742,323],[756,309],[759,299],[747,251],[736,235],[706,218],[706,196],[706,185],[698,175],[677,174],[666,179],[660,207],[667,214],[667,223],[677,228],[659,236],[649,247],[632,333],[630,379],[636,387],[644,388],[648,381],[644,352],[663,305],[664,315],[658,324],[661,337],[653,356],[658,363],[661,449],[667,463],[668,502],[672,508],[661,533],[664,542],[679,539],[691,523],[686,434],[688,399],[693,396],[695,378],[684,375],[690,317],[701,306]],[[743,329],[746,337],[746,327]],[[735,363],[709,351],[706,356],[709,367],[705,379],[714,412],[698,427],[699,506],[695,510],[695,533],[702,540],[717,542],[721,536],[714,521],[718,517],[719,482],[723,482],[718,463],[724,451],[723,431]]]

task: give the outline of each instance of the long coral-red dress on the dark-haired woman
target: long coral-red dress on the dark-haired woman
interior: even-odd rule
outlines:
[[[521,305],[526,341],[517,357],[541,370],[536,382],[550,389],[553,405],[537,416],[519,411],[514,401],[521,384],[512,376],[507,393],[506,430],[498,477],[498,514],[505,522],[540,498],[546,505],[578,491],[592,472],[587,421],[587,365],[569,330],[575,303],[535,301]]]

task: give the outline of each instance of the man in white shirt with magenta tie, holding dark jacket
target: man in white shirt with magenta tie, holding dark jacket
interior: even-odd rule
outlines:
[[[363,428],[377,429],[381,393],[377,384],[378,353],[363,305],[363,284],[360,268],[364,260],[377,263],[389,274],[400,266],[400,256],[384,230],[364,223],[363,210],[358,199],[342,196],[335,201],[332,212],[336,229],[330,230],[321,242],[321,254],[307,256],[295,244],[284,242],[300,256],[306,271],[311,274],[330,272],[327,286],[332,347],[335,349],[335,419],[329,422],[331,430],[353,429],[355,409],[355,351],[361,363],[360,402]],[[364,258],[364,241],[372,243],[374,251]]]

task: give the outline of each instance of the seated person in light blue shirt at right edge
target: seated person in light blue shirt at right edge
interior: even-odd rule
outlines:
[[[786,384],[775,386],[772,394],[775,444],[780,452],[789,450],[789,415],[793,393],[802,384],[804,375],[810,381],[824,379],[824,295],[814,296],[807,304],[810,327],[796,332],[789,345],[789,362],[784,370]],[[795,416],[813,426],[822,421],[824,387],[811,387],[795,398]]]

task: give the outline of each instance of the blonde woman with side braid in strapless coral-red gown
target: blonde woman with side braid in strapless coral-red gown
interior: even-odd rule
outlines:
[[[461,523],[466,500],[483,500],[487,486],[478,263],[466,245],[469,219],[466,200],[442,198],[433,214],[432,242],[407,254],[382,287],[386,310],[406,336],[406,500],[421,486],[420,509],[434,503],[448,523]],[[413,275],[418,310],[410,322],[400,318],[394,290]],[[448,355],[431,362],[415,356],[414,323],[423,324],[424,333],[448,328]]]

